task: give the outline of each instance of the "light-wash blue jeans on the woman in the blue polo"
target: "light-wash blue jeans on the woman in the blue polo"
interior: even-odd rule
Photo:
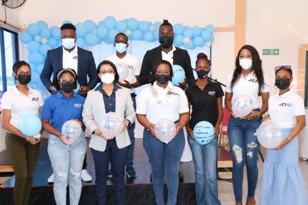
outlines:
[[[82,188],[81,168],[86,150],[84,135],[71,146],[64,145],[59,137],[49,135],[47,151],[53,167],[53,194],[57,205],[66,204],[67,183],[70,187],[70,204],[78,204]]]

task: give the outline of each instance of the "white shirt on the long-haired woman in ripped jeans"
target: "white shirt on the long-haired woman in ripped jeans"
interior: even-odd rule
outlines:
[[[226,86],[226,92],[233,93],[232,100],[239,94],[247,94],[253,99],[253,109],[260,108],[258,102],[259,83],[257,81],[257,77],[255,76],[255,72],[247,74],[246,77],[243,77],[241,74],[240,79],[238,79],[238,82],[235,83],[233,89],[231,90],[232,77],[233,74],[230,74],[227,79]],[[261,92],[270,92],[270,90],[268,89],[268,77],[266,75],[264,75],[264,87]]]

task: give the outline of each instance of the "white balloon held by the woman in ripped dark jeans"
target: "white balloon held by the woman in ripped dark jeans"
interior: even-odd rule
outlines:
[[[246,94],[239,94],[232,100],[232,111],[238,118],[245,117],[253,111],[253,99]]]

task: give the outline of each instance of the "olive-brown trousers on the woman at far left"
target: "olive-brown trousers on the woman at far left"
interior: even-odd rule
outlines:
[[[32,179],[40,143],[32,145],[29,141],[12,133],[6,133],[5,146],[12,161],[15,174],[14,204],[27,205],[31,193]]]

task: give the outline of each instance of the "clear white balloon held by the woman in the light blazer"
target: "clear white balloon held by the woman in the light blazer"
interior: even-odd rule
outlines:
[[[105,114],[102,121],[101,132],[107,137],[116,137],[121,133],[123,118],[114,112]]]

